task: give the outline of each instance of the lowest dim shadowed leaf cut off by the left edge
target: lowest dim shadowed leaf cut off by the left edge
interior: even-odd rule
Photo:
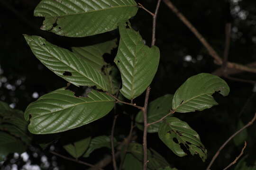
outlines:
[[[0,161],[4,161],[9,153],[23,153],[27,146],[18,138],[0,131]]]

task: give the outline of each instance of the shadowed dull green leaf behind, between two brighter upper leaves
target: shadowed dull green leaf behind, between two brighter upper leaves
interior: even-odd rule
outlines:
[[[117,40],[111,40],[99,44],[94,44],[85,47],[72,47],[72,51],[80,56],[85,62],[89,63],[92,68],[101,71],[107,63],[103,59],[103,54],[111,53],[111,50],[117,47]]]

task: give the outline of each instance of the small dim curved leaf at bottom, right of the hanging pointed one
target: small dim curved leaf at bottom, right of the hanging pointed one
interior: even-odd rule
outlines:
[[[117,144],[116,139],[114,138],[114,145]],[[109,136],[97,136],[94,137],[93,139],[91,139],[91,143],[88,147],[88,149],[86,150],[86,152],[84,153],[83,157],[87,158],[90,156],[90,154],[99,148],[102,147],[107,147],[107,148],[111,148],[111,142],[110,142],[110,137]]]

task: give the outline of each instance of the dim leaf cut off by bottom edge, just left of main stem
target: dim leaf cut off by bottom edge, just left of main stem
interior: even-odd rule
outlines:
[[[126,153],[123,170],[143,170],[143,163],[133,156],[133,154]]]

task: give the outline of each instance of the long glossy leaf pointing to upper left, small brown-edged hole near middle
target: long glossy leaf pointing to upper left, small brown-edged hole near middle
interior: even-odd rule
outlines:
[[[73,85],[96,85],[98,88],[108,91],[106,79],[81,57],[47,42],[42,37],[29,35],[24,35],[24,37],[37,59],[56,75]]]

